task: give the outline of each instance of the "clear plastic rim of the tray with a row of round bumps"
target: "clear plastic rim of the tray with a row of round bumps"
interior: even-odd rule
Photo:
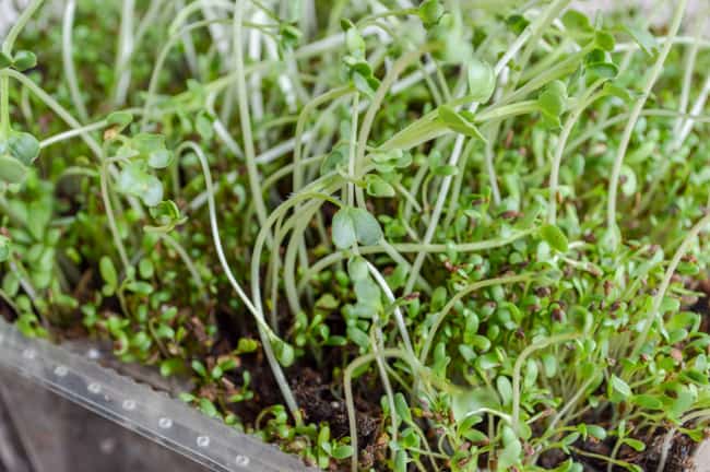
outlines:
[[[25,338],[2,319],[0,364],[212,470],[307,470],[298,458],[274,446],[102,367],[95,359]]]

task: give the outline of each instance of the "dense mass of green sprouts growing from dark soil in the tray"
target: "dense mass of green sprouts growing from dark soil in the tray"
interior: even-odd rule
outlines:
[[[0,312],[322,469],[662,470],[710,415],[686,3],[33,0]]]

